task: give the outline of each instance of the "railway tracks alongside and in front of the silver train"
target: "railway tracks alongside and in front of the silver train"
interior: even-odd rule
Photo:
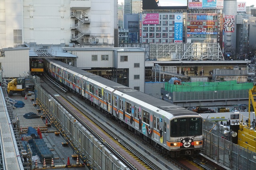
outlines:
[[[80,115],[83,115],[86,117],[86,119],[90,120],[92,123],[94,123],[99,129],[101,129],[102,132],[104,132],[108,137],[110,137],[112,139],[112,141],[115,141],[115,143],[117,145],[119,145],[122,149],[126,150],[126,152],[128,152],[130,155],[132,155],[134,157],[134,159],[139,159],[140,160],[140,164],[142,164],[142,166],[144,166],[146,169],[153,169],[153,170],[160,170],[159,167],[157,167],[152,160],[148,160],[148,158],[146,158],[146,156],[141,155],[140,153],[138,153],[137,150],[134,150],[126,141],[120,139],[118,136],[115,135],[115,133],[113,133],[111,130],[109,130],[104,123],[106,123],[107,125],[110,125],[111,123],[115,123],[116,125],[118,125],[118,123],[116,123],[115,121],[112,120],[111,123],[108,123],[106,120],[102,119],[102,117],[104,117],[105,115],[103,113],[100,112],[100,116],[98,115],[99,110],[94,108],[91,105],[84,105],[84,100],[79,101],[76,97],[74,97],[73,94],[68,94],[68,90],[66,90],[65,88],[63,88],[62,86],[58,85],[56,82],[52,81],[51,78],[47,77],[46,78],[42,78],[41,80],[44,80],[44,82],[46,82],[46,84],[48,84],[48,86],[50,86],[52,90],[49,90],[49,88],[45,87],[45,89],[48,89],[46,91],[49,92],[49,94],[52,96],[52,98],[54,98],[56,101],[62,103],[57,97],[54,96],[55,92],[58,92],[63,98],[65,98],[65,100],[72,104],[73,107],[77,108],[77,111],[80,113]],[[41,86],[43,87],[44,85],[41,83]],[[43,87],[44,88],[44,87]],[[56,90],[59,89],[59,90]],[[63,104],[65,105],[65,104]],[[72,109],[70,109],[70,107],[65,107],[70,113],[73,113],[73,116],[76,117],[76,119],[78,121],[80,121],[80,123],[83,123],[83,120],[80,119],[76,114],[74,114],[74,111],[72,111]],[[88,111],[89,110],[89,111]],[[98,113],[94,113],[94,112],[98,112]],[[96,116],[96,118],[95,118]],[[108,119],[109,120],[109,119]],[[102,123],[104,122],[104,123]],[[86,126],[86,123],[83,123],[84,126]],[[123,127],[122,125],[118,125],[118,127]],[[133,170],[136,169],[134,166],[132,166],[130,164],[130,162],[128,162],[122,155],[120,155],[118,152],[116,152],[116,150],[110,146],[108,143],[106,143],[106,141],[104,141],[104,139],[102,137],[100,137],[97,133],[95,133],[92,129],[88,129],[90,131],[90,133],[94,134],[95,137],[101,141],[105,147],[107,147],[112,153],[115,154],[115,156],[118,157],[119,160],[121,160],[124,164],[126,164],[127,167],[129,167],[129,169]],[[131,131],[123,128],[124,131],[126,131],[127,133],[129,133],[131,136],[135,137],[136,139],[138,139],[140,142],[142,142],[144,145],[146,145],[147,147],[150,147],[152,150],[154,150],[154,152],[156,152],[157,154],[160,154],[159,150],[154,148],[151,145],[148,145],[148,143],[146,143],[145,141],[141,140],[140,137],[138,135],[135,135],[134,133],[132,133]],[[166,160],[168,160],[168,162],[170,162],[170,164],[175,165],[178,169],[182,169],[182,170],[190,170],[191,168],[186,166],[184,163],[182,163],[181,161],[178,161],[176,159],[171,159],[169,157],[165,157],[165,155],[161,155],[161,157],[166,158]],[[201,158],[202,160],[202,158]],[[161,160],[158,160],[161,161]],[[190,162],[191,161],[191,162]],[[186,162],[190,162],[190,164],[194,165],[194,168],[192,168],[193,170],[195,170],[196,168],[198,169],[205,169],[205,170],[214,170],[214,169],[219,169],[216,168],[218,167],[218,165],[216,163],[211,163],[213,165],[211,165],[210,167],[208,165],[206,165],[206,163],[208,164],[210,161],[208,160],[207,162],[202,162],[200,161],[200,159],[193,159],[193,158],[187,158]],[[164,164],[164,163],[162,163]],[[214,167],[215,164],[215,167]],[[165,167],[168,167],[168,164],[164,165]],[[169,168],[170,170],[172,168]]]

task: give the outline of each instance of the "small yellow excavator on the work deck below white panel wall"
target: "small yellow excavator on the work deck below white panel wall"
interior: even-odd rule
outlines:
[[[20,93],[23,97],[26,96],[26,86],[25,86],[25,78],[12,78],[7,86],[7,92],[9,96],[13,96],[14,93]]]

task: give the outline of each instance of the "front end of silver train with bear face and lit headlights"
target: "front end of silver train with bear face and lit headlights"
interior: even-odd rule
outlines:
[[[195,155],[203,147],[202,117],[187,109],[169,110],[170,118],[170,147],[171,157]]]

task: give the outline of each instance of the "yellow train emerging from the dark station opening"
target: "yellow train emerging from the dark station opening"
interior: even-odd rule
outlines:
[[[41,58],[30,58],[29,66],[31,75],[42,75],[44,73],[44,60]]]

